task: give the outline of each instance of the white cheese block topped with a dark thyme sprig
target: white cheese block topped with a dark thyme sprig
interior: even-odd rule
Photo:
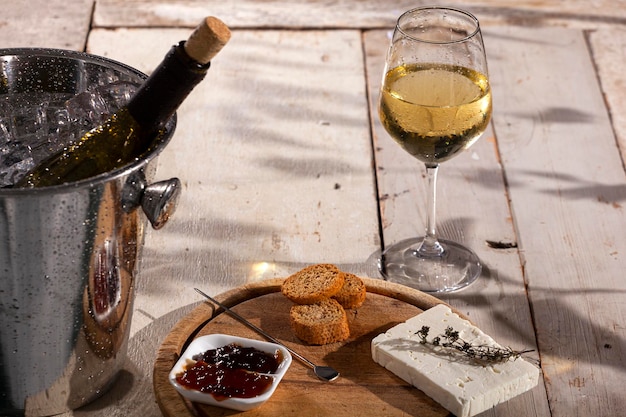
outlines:
[[[450,349],[420,343],[415,334],[429,326],[428,340],[450,326],[472,345],[498,345],[491,337],[440,304],[372,340],[374,361],[417,387],[457,417],[470,417],[532,389],[539,369],[522,358],[478,363]]]

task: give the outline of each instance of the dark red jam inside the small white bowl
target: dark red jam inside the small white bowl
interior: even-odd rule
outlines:
[[[206,392],[218,400],[252,398],[272,385],[272,377],[261,374],[276,372],[280,365],[275,355],[237,344],[207,350],[193,357],[196,362],[176,375],[176,381],[189,389]]]

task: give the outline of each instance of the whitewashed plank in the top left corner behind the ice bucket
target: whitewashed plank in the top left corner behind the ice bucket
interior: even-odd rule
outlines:
[[[0,47],[82,51],[95,0],[3,1]]]

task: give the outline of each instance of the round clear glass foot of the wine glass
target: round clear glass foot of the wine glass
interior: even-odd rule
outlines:
[[[381,255],[378,268],[390,282],[428,293],[446,293],[470,285],[480,276],[478,256],[459,243],[439,240],[443,255],[424,256],[417,252],[423,238],[411,238],[388,247]]]

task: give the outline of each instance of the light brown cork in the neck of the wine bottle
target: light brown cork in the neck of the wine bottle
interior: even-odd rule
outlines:
[[[229,39],[228,26],[218,18],[209,16],[189,36],[185,42],[185,52],[200,64],[208,64]]]

